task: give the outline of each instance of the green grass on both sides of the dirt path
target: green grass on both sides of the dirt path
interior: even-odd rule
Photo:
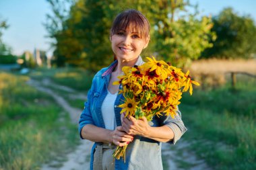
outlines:
[[[26,85],[32,79],[51,79],[87,91],[92,74],[80,69],[36,69],[28,76],[0,73],[0,169],[39,169],[42,163],[74,146],[79,136],[67,113],[49,95]],[[212,169],[256,169],[256,79],[238,76],[236,89],[195,89],[179,106],[188,128],[183,138]],[[55,93],[63,93],[55,89]],[[69,104],[82,108],[82,99]],[[65,118],[62,122],[59,118]],[[63,129],[67,128],[63,132]],[[61,140],[59,140],[61,139]]]

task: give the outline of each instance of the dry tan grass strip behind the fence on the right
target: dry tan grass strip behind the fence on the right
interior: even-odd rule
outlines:
[[[220,87],[230,81],[231,72],[256,75],[256,60],[197,60],[188,68],[195,80],[201,83],[201,88]],[[240,75],[247,77],[247,75]]]

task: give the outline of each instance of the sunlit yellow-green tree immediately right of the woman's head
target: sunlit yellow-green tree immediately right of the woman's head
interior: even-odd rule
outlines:
[[[190,13],[187,8],[195,9],[195,13]],[[160,58],[183,67],[212,46],[210,40],[214,40],[215,35],[210,31],[213,26],[211,18],[199,18],[197,6],[189,1],[156,1],[151,13],[154,17],[155,50]]]

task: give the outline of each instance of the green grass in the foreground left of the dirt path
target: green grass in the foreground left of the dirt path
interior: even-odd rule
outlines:
[[[40,169],[79,141],[68,114],[28,79],[0,73],[0,169]]]

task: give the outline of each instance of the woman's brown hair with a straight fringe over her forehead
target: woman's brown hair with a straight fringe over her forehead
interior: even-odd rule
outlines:
[[[121,30],[138,32],[143,40],[150,37],[150,23],[148,19],[135,9],[127,9],[117,15],[110,29],[110,36],[117,34]]]

